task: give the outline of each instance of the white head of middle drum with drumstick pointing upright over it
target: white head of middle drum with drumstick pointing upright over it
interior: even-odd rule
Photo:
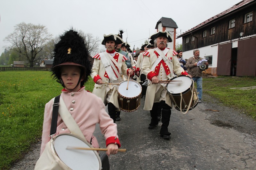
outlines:
[[[136,82],[134,80],[129,80],[128,90],[126,90],[127,84],[128,84],[128,81],[122,81],[117,87],[117,91],[122,96],[124,96],[126,98],[133,98],[133,97],[137,97],[140,95],[141,85],[138,82]]]

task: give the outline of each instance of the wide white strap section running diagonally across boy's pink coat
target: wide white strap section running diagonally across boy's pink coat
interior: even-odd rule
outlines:
[[[76,135],[86,141],[83,132],[78,127],[78,125],[77,125],[76,121],[74,120],[74,118],[72,117],[72,115],[69,113],[61,96],[60,96],[59,114],[60,114],[60,117],[63,120],[63,122],[68,127],[69,131],[71,133],[73,133],[74,135]]]

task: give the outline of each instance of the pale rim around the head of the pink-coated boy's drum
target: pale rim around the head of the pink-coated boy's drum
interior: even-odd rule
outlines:
[[[74,135],[74,134],[72,134],[72,133],[61,133],[61,134],[56,135],[55,137],[51,138],[51,140],[52,140],[52,142],[51,142],[51,149],[52,149],[52,152],[55,153],[57,156],[58,156],[58,154],[56,153],[56,151],[55,151],[55,149],[54,149],[54,141],[55,141],[55,138],[57,138],[57,137],[59,137],[59,136],[61,136],[61,135],[69,135],[69,136],[76,137],[76,138],[82,140],[84,143],[86,143],[90,148],[93,148],[92,145],[91,145],[87,140],[84,140],[84,139],[81,138],[81,137],[78,137],[78,136],[76,136],[76,135]],[[95,153],[96,157],[97,157],[98,160],[99,160],[100,169],[101,169],[102,163],[101,163],[100,155],[98,154],[97,151],[93,151],[93,152]],[[58,156],[58,158],[60,159],[59,156]],[[63,164],[65,164],[65,162],[63,162],[61,159],[60,159],[60,161],[61,161]],[[66,164],[65,164],[65,165],[66,165]],[[67,165],[66,165],[66,166],[67,166]],[[69,166],[67,166],[67,167],[69,167]],[[69,168],[70,168],[70,167],[69,167]],[[71,169],[71,168],[70,168],[70,169]],[[100,169],[99,169],[99,170],[100,170]]]

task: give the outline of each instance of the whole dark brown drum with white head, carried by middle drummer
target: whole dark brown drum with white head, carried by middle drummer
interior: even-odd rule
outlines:
[[[135,80],[129,80],[128,90],[126,90],[128,80],[122,81],[117,86],[118,103],[121,110],[133,112],[140,106],[141,85]]]

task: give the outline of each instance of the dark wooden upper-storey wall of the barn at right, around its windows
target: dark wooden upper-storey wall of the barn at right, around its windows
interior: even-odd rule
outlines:
[[[252,21],[244,23],[245,14],[252,12]],[[235,19],[235,27],[229,28],[229,21]],[[211,28],[215,27],[215,33],[210,35]],[[206,37],[203,38],[203,32],[207,31]],[[201,48],[212,44],[240,38],[240,33],[244,33],[243,36],[256,34],[256,3],[244,9],[237,10],[232,14],[217,18],[207,26],[203,26],[191,33],[182,36],[182,50],[188,51],[195,48]],[[194,36],[195,40],[191,41],[191,37]],[[186,43],[186,38],[189,38]]]

